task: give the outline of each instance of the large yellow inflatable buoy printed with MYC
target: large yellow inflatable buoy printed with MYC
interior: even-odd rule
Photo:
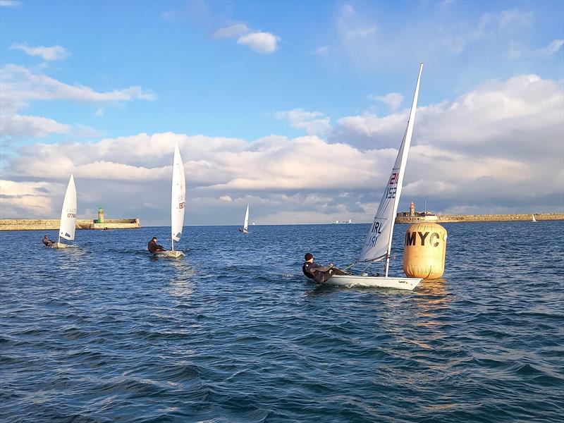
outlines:
[[[413,223],[405,232],[403,272],[410,278],[437,279],[445,272],[446,229]]]

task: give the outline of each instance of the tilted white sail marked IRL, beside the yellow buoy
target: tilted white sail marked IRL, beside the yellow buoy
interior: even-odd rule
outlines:
[[[415,123],[415,111],[417,110],[417,97],[419,97],[419,80],[423,71],[423,63],[419,66],[419,75],[417,76],[417,85],[415,85],[415,95],[411,106],[409,121],[407,121],[407,129],[403,135],[403,141],[393,165],[390,178],[386,183],[384,195],[380,201],[376,216],[364,246],[358,257],[359,262],[370,262],[376,259],[386,258],[386,276],[388,276],[389,255],[391,249],[393,224],[396,221],[396,213],[398,212],[398,202],[400,201],[401,189],[403,185],[403,175],[405,173],[405,164],[407,163],[407,154],[411,145],[411,137],[413,134],[413,124]]]

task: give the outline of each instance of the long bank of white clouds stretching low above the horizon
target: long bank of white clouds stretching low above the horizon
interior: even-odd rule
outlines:
[[[562,209],[563,114],[563,82],[536,75],[492,81],[452,102],[419,107],[400,208],[427,199],[435,212]],[[280,115],[296,125],[323,116],[301,109]],[[81,211],[104,204],[114,216],[167,224],[178,142],[188,186],[187,224],[239,223],[246,202],[261,223],[369,221],[406,121],[407,110],[344,116],[326,135],[329,141],[157,133],[35,144],[8,158],[3,176],[62,186],[74,172]],[[25,204],[35,213],[43,200],[43,192],[31,192],[18,200],[18,213],[25,214]],[[10,201],[14,209],[16,200]],[[60,199],[54,201],[59,207]]]

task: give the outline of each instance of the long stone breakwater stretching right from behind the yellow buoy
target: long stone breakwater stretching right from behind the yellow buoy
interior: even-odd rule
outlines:
[[[564,213],[542,213],[534,214],[537,221],[564,220]],[[532,214],[446,214],[427,216],[399,216],[396,223],[452,223],[452,222],[508,222],[508,221],[532,221]]]

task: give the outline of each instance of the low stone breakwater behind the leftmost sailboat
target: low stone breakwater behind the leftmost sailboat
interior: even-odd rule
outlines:
[[[77,229],[137,229],[139,219],[106,219],[96,223],[92,219],[76,219]],[[59,229],[59,219],[0,219],[0,231],[42,231]]]

